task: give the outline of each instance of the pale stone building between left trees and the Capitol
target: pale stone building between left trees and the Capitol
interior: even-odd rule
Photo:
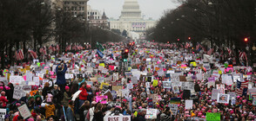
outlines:
[[[87,21],[91,27],[109,29],[108,18],[104,12],[101,14],[99,10],[92,10],[90,5],[88,5],[87,8]]]

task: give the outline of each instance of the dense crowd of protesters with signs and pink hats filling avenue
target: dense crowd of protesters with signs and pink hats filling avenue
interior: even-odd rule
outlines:
[[[101,52],[103,56],[97,49],[84,50],[39,65],[4,69],[2,76],[7,80],[0,82],[0,107],[6,109],[3,119],[112,121],[111,117],[126,116],[131,121],[199,121],[214,114],[219,120],[255,120],[252,67],[220,62],[217,53],[206,56],[185,48],[136,46],[129,49],[126,62],[123,49],[124,45],[113,43]],[[28,73],[39,77],[39,84],[28,80]],[[13,83],[11,76],[27,76],[22,81],[30,82]],[[20,92],[20,99],[14,98],[18,86],[30,86],[29,91]],[[28,107],[30,117],[24,117],[22,105]]]

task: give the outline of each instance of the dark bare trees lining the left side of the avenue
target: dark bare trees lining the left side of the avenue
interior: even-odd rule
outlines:
[[[83,16],[51,5],[44,0],[0,0],[1,67],[14,64],[17,49],[24,49],[28,61],[27,50],[40,54],[39,48],[48,41],[55,41],[60,53],[75,42],[90,42],[93,47],[96,41],[121,41],[108,30],[91,28]]]

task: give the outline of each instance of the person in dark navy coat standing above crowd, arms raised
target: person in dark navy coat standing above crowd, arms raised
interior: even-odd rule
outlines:
[[[57,81],[56,84],[57,86],[60,87],[60,91],[62,94],[64,93],[64,86],[66,84],[65,80],[65,73],[67,71],[67,65],[64,63],[64,60],[61,61],[60,64],[57,65],[56,67],[56,73],[57,73]]]

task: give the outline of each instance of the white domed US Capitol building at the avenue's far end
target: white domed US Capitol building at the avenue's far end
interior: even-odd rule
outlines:
[[[121,33],[126,30],[128,35],[136,34],[136,39],[143,39],[145,31],[155,26],[156,21],[149,18],[144,20],[137,0],[125,0],[121,16],[118,20],[109,19],[110,29],[119,29]]]

